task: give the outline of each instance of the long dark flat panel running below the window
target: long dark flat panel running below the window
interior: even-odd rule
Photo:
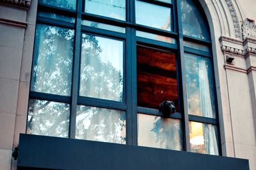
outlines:
[[[18,169],[249,170],[248,160],[21,134]]]

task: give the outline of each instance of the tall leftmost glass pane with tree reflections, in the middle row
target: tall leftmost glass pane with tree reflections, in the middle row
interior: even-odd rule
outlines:
[[[70,96],[74,30],[37,24],[31,91]]]

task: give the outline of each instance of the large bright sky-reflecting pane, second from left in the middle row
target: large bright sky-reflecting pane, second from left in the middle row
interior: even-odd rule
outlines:
[[[123,100],[124,42],[83,34],[79,95]]]

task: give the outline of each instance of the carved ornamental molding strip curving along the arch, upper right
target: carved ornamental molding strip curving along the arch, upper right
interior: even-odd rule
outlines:
[[[231,14],[231,17],[232,17],[232,20],[234,23],[236,38],[239,38],[240,40],[242,40],[243,37],[242,37],[242,33],[241,33],[241,27],[239,24],[235,6],[232,3],[232,0],[226,0],[226,3],[228,5],[228,8],[230,10],[230,14]]]

